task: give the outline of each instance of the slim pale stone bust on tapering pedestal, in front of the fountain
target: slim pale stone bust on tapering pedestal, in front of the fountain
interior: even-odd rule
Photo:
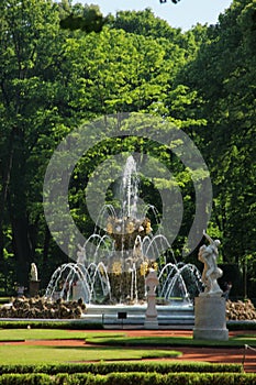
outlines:
[[[147,309],[144,327],[145,329],[158,329],[157,310],[156,310],[156,286],[159,280],[154,270],[151,270],[146,277],[147,292]]]

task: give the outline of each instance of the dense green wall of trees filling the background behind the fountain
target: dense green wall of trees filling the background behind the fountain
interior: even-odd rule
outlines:
[[[254,290],[255,0],[234,0],[211,26],[182,33],[149,9],[103,19],[93,6],[63,0],[0,4],[0,287],[27,285],[31,262],[42,287],[67,261],[48,231],[42,205],[45,169],[57,144],[81,123],[116,112],[149,112],[182,129],[209,166],[214,190],[209,232],[221,257],[248,270]],[[74,170],[69,200],[88,237],[85,182],[111,154],[154,154],[175,175],[185,213],[172,249],[181,254],[194,216],[188,170],[164,146],[133,138],[107,141]],[[168,182],[162,180],[167,188]],[[145,200],[160,206],[154,184]],[[197,260],[194,255],[188,260]],[[247,267],[246,267],[247,266]],[[241,288],[240,292],[243,295]]]

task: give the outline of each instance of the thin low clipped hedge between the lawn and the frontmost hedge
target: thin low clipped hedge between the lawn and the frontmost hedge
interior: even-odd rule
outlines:
[[[109,373],[131,373],[131,372],[156,372],[159,374],[197,372],[197,373],[242,373],[241,364],[210,364],[210,363],[157,363],[157,362],[111,362],[111,363],[85,363],[85,364],[60,364],[60,365],[1,365],[0,374],[8,373],[45,373],[55,375],[58,373],[92,373],[105,375]]]

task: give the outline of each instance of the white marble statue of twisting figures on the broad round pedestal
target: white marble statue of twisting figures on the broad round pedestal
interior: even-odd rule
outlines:
[[[223,274],[222,270],[216,265],[219,256],[218,248],[220,246],[221,242],[219,240],[212,240],[204,230],[203,235],[210,242],[210,244],[208,246],[203,244],[199,249],[198,254],[199,261],[204,264],[202,272],[202,282],[205,285],[205,288],[204,292],[200,295],[221,296],[223,292],[216,282],[216,279],[219,279]]]

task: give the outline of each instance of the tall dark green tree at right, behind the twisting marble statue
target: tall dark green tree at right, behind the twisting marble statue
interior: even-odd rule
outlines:
[[[255,255],[255,1],[236,0],[208,29],[185,84],[202,100],[196,132],[212,175],[212,231],[222,238],[224,261]],[[251,258],[252,260],[252,258]]]

